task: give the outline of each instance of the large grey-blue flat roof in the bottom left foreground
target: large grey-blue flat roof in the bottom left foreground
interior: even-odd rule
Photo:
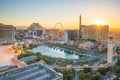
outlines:
[[[63,76],[42,63],[0,73],[0,80],[62,80]]]

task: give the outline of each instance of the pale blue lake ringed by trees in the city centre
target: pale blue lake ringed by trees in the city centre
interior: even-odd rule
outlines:
[[[77,54],[69,50],[63,50],[57,47],[49,47],[45,45],[39,45],[38,47],[33,48],[32,51],[40,52],[42,55],[64,59],[80,59],[86,57],[84,54]]]

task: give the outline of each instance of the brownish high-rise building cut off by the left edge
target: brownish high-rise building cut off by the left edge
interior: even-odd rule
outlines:
[[[0,43],[14,43],[15,30],[16,28],[12,25],[0,24]]]

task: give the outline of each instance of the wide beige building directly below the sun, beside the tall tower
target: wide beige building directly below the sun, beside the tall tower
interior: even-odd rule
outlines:
[[[82,39],[94,39],[106,41],[109,35],[108,25],[81,25]]]

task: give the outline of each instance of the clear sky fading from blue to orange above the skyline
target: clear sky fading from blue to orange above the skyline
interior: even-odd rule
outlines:
[[[46,28],[61,23],[64,28],[78,28],[101,19],[110,27],[120,27],[120,0],[0,0],[0,23],[30,26],[33,22]],[[60,25],[57,25],[60,26]]]

